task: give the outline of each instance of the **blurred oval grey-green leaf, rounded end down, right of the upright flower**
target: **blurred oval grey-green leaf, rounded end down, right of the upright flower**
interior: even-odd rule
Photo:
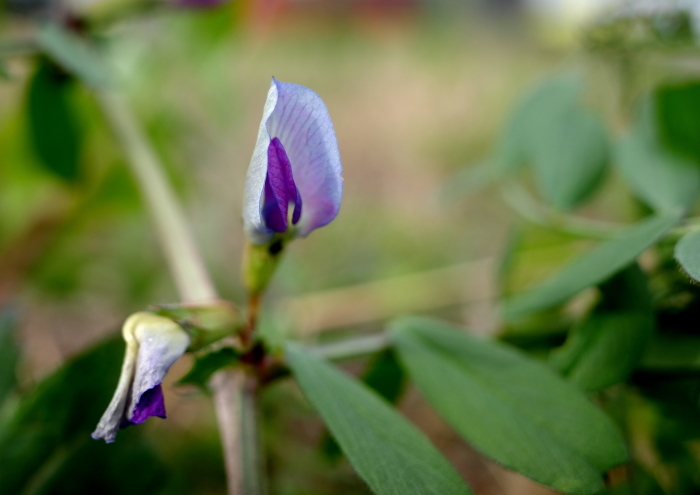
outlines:
[[[535,184],[553,206],[569,210],[592,194],[608,165],[608,138],[600,119],[571,109],[536,141]]]

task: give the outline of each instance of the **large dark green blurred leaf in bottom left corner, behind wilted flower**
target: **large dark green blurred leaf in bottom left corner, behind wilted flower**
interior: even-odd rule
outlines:
[[[153,493],[162,465],[139,443],[139,430],[127,430],[116,448],[90,438],[114,392],[123,354],[123,340],[110,339],[21,398],[0,425],[0,493]]]

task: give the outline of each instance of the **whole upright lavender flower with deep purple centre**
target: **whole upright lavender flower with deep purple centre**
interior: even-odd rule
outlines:
[[[343,168],[323,100],[272,78],[248,168],[243,224],[253,244],[275,233],[305,237],[335,218]]]

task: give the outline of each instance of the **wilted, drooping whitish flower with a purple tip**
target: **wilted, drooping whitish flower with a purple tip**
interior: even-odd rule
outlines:
[[[190,337],[174,321],[153,313],[131,315],[122,328],[126,355],[112,401],[92,433],[95,440],[113,442],[120,428],[165,418],[161,383],[187,349]]]

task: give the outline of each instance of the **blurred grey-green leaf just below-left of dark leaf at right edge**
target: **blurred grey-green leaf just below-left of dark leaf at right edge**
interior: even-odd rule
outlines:
[[[688,207],[700,191],[700,168],[666,151],[645,104],[630,133],[615,147],[615,163],[632,190],[655,210]]]

